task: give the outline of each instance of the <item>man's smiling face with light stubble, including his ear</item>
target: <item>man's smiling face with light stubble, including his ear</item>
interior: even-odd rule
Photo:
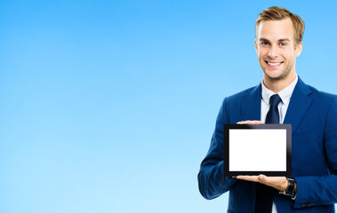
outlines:
[[[255,48],[265,80],[289,81],[295,76],[302,43],[294,43],[293,22],[262,20],[256,29]]]

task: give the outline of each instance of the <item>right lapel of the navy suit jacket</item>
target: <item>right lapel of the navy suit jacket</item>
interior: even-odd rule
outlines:
[[[310,93],[308,85],[303,83],[299,77],[285,114],[284,123],[292,124],[292,133],[297,129],[303,115],[307,112],[312,102],[312,98],[309,97]]]

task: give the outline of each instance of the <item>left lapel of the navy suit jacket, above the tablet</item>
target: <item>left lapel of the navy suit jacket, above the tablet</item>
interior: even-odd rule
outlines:
[[[261,120],[261,83],[241,99],[242,121]]]

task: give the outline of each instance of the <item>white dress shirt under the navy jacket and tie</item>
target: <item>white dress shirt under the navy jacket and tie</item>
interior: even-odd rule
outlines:
[[[274,91],[270,91],[264,84],[263,80],[261,82],[261,89],[262,89],[262,99],[261,99],[261,122],[266,122],[266,117],[269,111],[269,99],[272,95],[278,94],[278,96],[281,98],[281,102],[278,104],[278,114],[280,118],[280,123],[283,123],[285,121],[285,114],[286,110],[288,109],[290,98],[293,94],[293,89],[295,88],[295,85],[298,81],[298,76],[296,75],[295,80],[293,80],[293,83],[290,83],[285,89],[282,91],[278,91],[275,93]],[[272,213],[277,213],[277,207],[275,204],[275,201],[273,201],[273,209]]]

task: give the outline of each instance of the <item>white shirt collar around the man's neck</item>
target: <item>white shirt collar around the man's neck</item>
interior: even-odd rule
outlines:
[[[293,89],[296,86],[296,83],[298,82],[299,77],[296,74],[295,80],[293,80],[293,83],[290,83],[285,89],[282,91],[278,91],[278,96],[281,98],[282,103],[284,105],[289,104],[290,98],[293,94]],[[276,94],[274,91],[270,91],[263,83],[263,80],[261,81],[261,88],[262,88],[262,99],[264,102],[266,102],[267,105],[269,105],[269,99],[272,95]]]

